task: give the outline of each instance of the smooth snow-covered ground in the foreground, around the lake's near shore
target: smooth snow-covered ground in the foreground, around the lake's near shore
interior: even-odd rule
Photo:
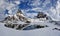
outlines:
[[[49,22],[40,22],[40,24],[48,25],[48,27],[35,30],[15,30],[7,28],[3,23],[0,23],[0,36],[60,36],[59,30],[53,30],[55,27],[60,29],[60,26]]]

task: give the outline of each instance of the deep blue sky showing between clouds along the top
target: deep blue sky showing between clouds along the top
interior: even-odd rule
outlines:
[[[6,0],[8,3],[16,4],[15,0]],[[41,8],[41,10],[48,10],[51,7],[56,8],[58,0],[17,0],[20,4],[17,7],[21,10],[28,10],[33,8]],[[36,4],[37,3],[37,4]],[[6,9],[5,14],[8,14],[8,9]],[[30,11],[30,10],[29,10]],[[31,12],[31,11],[30,11]]]

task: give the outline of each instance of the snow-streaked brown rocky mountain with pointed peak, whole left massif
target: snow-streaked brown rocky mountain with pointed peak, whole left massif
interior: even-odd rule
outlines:
[[[18,10],[17,11],[17,13],[15,14],[15,15],[13,15],[13,16],[8,16],[8,17],[6,17],[5,19],[4,19],[4,21],[6,21],[6,20],[8,20],[8,21],[18,21],[18,20],[20,20],[20,21],[22,21],[22,22],[26,22],[26,23],[29,23],[30,21],[28,21],[28,19],[23,15],[23,13],[22,13],[22,11],[21,10]],[[28,21],[28,22],[27,22]]]

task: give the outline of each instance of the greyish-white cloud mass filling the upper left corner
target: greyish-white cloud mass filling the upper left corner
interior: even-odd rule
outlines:
[[[14,4],[16,3],[16,4]],[[4,11],[7,9],[9,10],[8,13],[12,13],[13,9],[15,9],[15,11],[17,10],[17,5],[20,3],[19,1],[15,1],[14,3],[12,2],[6,2],[5,0],[0,0],[0,12],[3,12],[2,15],[4,15]],[[14,11],[14,12],[15,12]],[[4,15],[5,16],[5,15]],[[3,17],[3,16],[1,16]]]

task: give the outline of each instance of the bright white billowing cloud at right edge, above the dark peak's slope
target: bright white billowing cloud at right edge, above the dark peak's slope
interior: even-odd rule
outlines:
[[[57,1],[57,5],[56,8],[51,7],[49,10],[47,10],[47,12],[49,12],[49,16],[52,17],[53,20],[55,21],[60,21],[60,1]]]

